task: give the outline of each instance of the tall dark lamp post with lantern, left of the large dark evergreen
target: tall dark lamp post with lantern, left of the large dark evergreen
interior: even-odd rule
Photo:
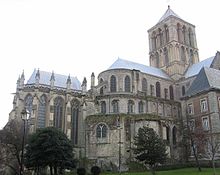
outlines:
[[[20,175],[23,175],[24,174],[24,140],[25,140],[25,123],[27,121],[27,114],[30,114],[26,108],[24,108],[22,111],[21,111],[21,119],[23,120],[24,122],[24,126],[23,126],[23,135],[22,135],[22,145],[21,145],[21,166],[20,166]]]

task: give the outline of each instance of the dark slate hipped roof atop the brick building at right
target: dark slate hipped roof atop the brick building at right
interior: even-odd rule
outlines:
[[[203,67],[185,96],[193,96],[210,89],[220,90],[220,71],[213,68]]]

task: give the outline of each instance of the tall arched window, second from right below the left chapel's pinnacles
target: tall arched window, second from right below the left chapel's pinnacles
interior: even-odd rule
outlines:
[[[56,128],[62,128],[63,117],[63,105],[64,101],[61,97],[56,97],[54,100],[54,126]]]

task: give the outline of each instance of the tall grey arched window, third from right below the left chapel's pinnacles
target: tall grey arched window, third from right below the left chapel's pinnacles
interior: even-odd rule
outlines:
[[[42,95],[39,101],[38,108],[38,118],[37,118],[37,127],[44,128],[46,125],[46,106],[47,100],[46,95]]]

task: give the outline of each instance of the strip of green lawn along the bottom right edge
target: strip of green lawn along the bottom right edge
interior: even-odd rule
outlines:
[[[218,175],[220,175],[220,168],[217,168],[216,172]],[[150,175],[150,173],[149,172],[122,173],[122,175]],[[185,169],[169,170],[169,171],[157,171],[156,175],[213,175],[213,170],[211,168],[202,168],[202,172],[200,173],[196,168],[185,168]]]

